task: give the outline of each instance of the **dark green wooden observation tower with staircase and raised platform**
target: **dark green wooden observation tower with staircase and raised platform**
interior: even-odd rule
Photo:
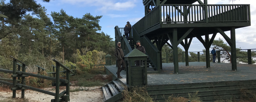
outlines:
[[[198,4],[194,4],[196,2]],[[118,26],[115,27],[115,40],[116,43],[122,43],[125,54],[134,49],[133,41],[141,41],[149,59],[147,62],[150,65],[147,66],[152,66],[148,69],[154,69],[147,73],[161,72],[163,45],[168,44],[173,49],[174,73],[179,73],[178,45],[181,44],[185,49],[188,66],[188,49],[193,38],[197,38],[206,52],[210,52],[217,33],[231,47],[232,70],[237,70],[235,29],[251,26],[250,4],[208,4],[207,0],[143,0],[143,4],[145,16],[132,26],[129,42],[123,37],[123,28]],[[148,8],[152,9],[149,13]],[[230,31],[230,38],[225,31]],[[209,35],[212,37],[209,38]],[[206,53],[206,67],[210,68],[210,53]]]

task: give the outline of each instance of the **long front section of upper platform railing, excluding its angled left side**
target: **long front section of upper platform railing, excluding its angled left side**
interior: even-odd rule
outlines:
[[[250,5],[161,5],[162,22],[250,21]],[[166,21],[167,14],[172,21]],[[206,19],[208,18],[208,19]]]

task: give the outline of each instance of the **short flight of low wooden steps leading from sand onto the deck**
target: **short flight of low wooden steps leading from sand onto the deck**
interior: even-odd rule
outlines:
[[[105,98],[104,102],[115,102],[122,98],[124,86],[118,82],[117,79],[115,79],[112,82],[104,85],[102,90]]]

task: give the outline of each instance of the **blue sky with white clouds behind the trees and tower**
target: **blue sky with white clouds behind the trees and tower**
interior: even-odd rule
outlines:
[[[51,12],[60,12],[61,9],[66,11],[66,14],[82,18],[86,13],[93,16],[102,16],[99,25],[102,27],[101,31],[110,35],[115,40],[115,26],[124,28],[126,22],[129,21],[134,25],[142,17],[144,17],[143,0],[50,0],[50,2],[38,1],[47,9],[47,14]],[[203,0],[201,0],[203,2]],[[198,4],[198,3],[196,3]],[[251,26],[236,29],[236,48],[241,49],[256,49],[256,3],[255,0],[236,0],[229,2],[229,0],[208,0],[208,4],[250,4],[251,10]],[[230,37],[230,32],[225,32]],[[209,35],[209,38],[212,34]],[[202,36],[205,39],[204,36]],[[221,38],[225,44],[227,41],[224,37],[217,33],[215,39]],[[184,48],[179,45],[180,48]],[[197,38],[193,38],[188,49],[189,52],[202,51],[205,49]],[[210,48],[211,50],[211,48]],[[184,50],[185,51],[185,50]]]

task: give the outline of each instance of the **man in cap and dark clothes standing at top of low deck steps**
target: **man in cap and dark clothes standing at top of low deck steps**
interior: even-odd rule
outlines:
[[[117,72],[116,72],[117,78],[123,78],[123,77],[120,76],[120,72],[122,70],[124,70],[126,68],[126,66],[125,66],[125,60],[124,60],[125,55],[124,55],[124,52],[121,48],[121,43],[120,42],[117,43],[117,48],[115,49],[115,56],[116,56],[116,59],[117,59],[116,60],[117,61]],[[121,68],[121,66],[122,66],[122,68]]]

